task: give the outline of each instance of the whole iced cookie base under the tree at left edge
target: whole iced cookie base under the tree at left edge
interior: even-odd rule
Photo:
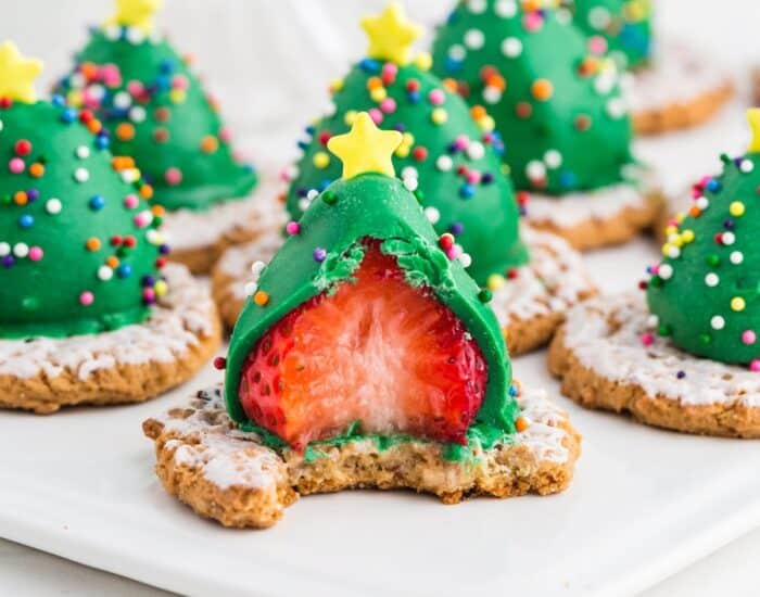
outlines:
[[[96,335],[0,340],[0,408],[48,415],[63,406],[139,403],[194,376],[221,343],[219,318],[185,267],[168,265],[164,274],[170,291],[142,323]]]

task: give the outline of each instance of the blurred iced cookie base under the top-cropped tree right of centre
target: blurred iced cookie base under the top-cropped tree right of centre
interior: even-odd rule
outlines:
[[[651,227],[663,203],[658,189],[628,185],[563,196],[530,193],[527,221],[578,251],[623,244]]]

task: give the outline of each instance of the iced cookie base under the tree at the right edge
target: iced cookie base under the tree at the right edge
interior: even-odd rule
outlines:
[[[662,339],[644,346],[639,336],[649,331],[648,318],[643,293],[572,308],[547,357],[562,393],[584,407],[630,412],[655,427],[760,437],[760,376],[694,357]]]

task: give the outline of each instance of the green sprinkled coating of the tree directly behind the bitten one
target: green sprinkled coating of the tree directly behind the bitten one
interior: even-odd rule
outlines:
[[[382,119],[378,126],[407,134],[394,156],[396,174],[415,189],[422,207],[438,212],[435,230],[453,232],[472,257],[468,272],[479,283],[528,261],[515,193],[499,164],[502,142],[489,131],[493,120],[484,111],[476,111],[476,122],[459,97],[415,64],[370,59],[351,69],[332,100],[334,113],[309,127],[311,139],[302,143],[304,154],[288,191],[293,219],[301,218],[309,196],[341,176],[328,139],[346,132],[357,111],[372,111],[376,122]]]

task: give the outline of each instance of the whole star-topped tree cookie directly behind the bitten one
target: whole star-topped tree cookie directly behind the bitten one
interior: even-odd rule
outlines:
[[[493,119],[482,106],[468,107],[431,75],[429,58],[413,58],[410,47],[421,31],[403,10],[391,4],[363,25],[368,56],[333,82],[333,113],[309,127],[311,139],[300,143],[303,156],[287,173],[291,221],[286,233],[299,233],[304,211],[340,177],[340,161],[326,144],[349,129],[358,110],[367,110],[376,124],[403,131],[393,154],[398,178],[443,234],[446,254],[494,294],[510,351],[545,344],[563,310],[594,292],[583,264],[569,246],[546,234],[528,230],[521,237],[519,206],[502,172],[504,148]],[[245,301],[251,265],[267,262],[278,242],[271,230],[231,250],[215,269],[214,294],[228,326]],[[512,290],[517,288],[532,289],[530,298]],[[530,316],[522,317],[527,312]]]

